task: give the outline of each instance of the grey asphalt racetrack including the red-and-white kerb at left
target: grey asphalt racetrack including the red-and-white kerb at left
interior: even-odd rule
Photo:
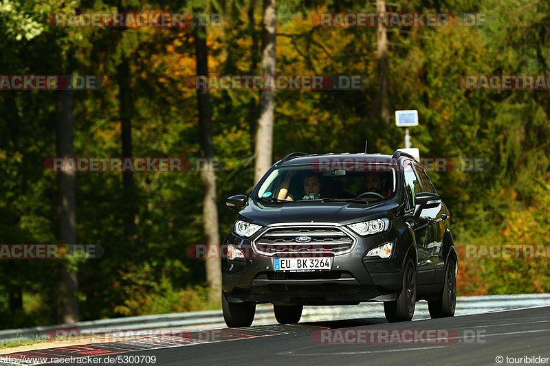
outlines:
[[[550,307],[537,307],[406,323],[365,318],[259,325],[177,334],[162,342],[140,339],[25,354],[62,353],[74,357],[86,354],[101,358],[109,355],[111,361],[113,357],[126,356],[115,363],[126,365],[152,365],[151,362],[122,363],[122,360],[137,360],[131,356],[155,356],[154,365],[158,366],[547,365],[550,364],[549,325]],[[22,354],[12,355],[20,358]],[[151,357],[147,359],[151,361]]]

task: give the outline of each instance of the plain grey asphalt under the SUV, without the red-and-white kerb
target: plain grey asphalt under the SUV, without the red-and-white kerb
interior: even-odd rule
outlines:
[[[289,334],[256,339],[175,347],[151,351],[158,365],[496,365],[496,356],[550,357],[550,308],[531,308],[426,319],[408,323],[386,323],[385,319],[355,319],[324,323],[280,325],[294,329]],[[375,330],[455,330],[452,343],[325,344],[312,334],[320,327]],[[479,331],[478,340],[460,338],[464,331]],[[472,334],[472,332],[467,332]],[[368,339],[367,339],[368,340]],[[465,341],[473,341],[465,343]],[[478,343],[476,343],[478,341]],[[506,363],[505,359],[503,363]]]

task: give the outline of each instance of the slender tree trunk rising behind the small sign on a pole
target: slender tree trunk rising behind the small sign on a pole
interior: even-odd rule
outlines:
[[[386,12],[386,1],[376,0],[376,12],[378,14]],[[378,57],[378,100],[380,101],[380,119],[386,127],[390,126],[390,100],[388,97],[388,36],[386,27],[383,24],[378,25],[376,33],[377,57]]]

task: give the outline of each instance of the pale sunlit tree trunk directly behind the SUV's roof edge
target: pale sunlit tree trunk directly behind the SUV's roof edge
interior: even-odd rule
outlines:
[[[266,76],[275,75],[276,31],[275,0],[263,0],[262,73]],[[260,118],[256,131],[256,167],[254,169],[256,183],[272,165],[273,112],[274,91],[263,89],[260,91]]]

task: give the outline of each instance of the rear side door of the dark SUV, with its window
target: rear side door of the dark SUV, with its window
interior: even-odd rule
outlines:
[[[422,185],[422,192],[431,192],[437,194],[437,191],[435,190],[432,181],[430,181],[426,170],[424,170],[419,164],[415,164],[415,168],[417,170],[420,183]],[[428,224],[430,226],[426,247],[426,251],[428,251],[429,253],[429,258],[426,265],[429,268],[432,268],[432,270],[434,271],[434,282],[436,270],[445,265],[439,257],[439,253],[441,253],[441,247],[443,245],[443,233],[445,231],[445,212],[445,206],[443,205],[443,203],[441,203],[441,201],[439,202],[439,205],[437,207],[422,210],[422,215],[426,215]]]

